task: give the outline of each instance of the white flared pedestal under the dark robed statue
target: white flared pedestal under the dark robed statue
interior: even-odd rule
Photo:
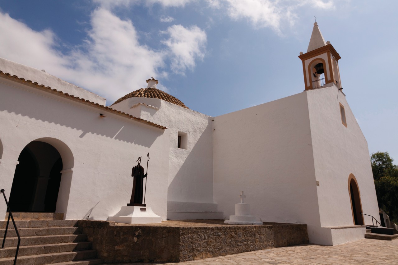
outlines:
[[[162,217],[152,212],[148,206],[122,206],[115,216],[109,216],[109,221],[125,224],[161,223]]]

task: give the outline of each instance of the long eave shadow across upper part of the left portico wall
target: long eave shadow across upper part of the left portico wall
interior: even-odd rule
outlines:
[[[111,115],[108,115],[106,118],[101,118],[100,110],[93,112],[80,107],[72,107],[70,104],[57,100],[43,102],[43,97],[40,95],[29,94],[27,97],[25,93],[22,90],[14,89],[12,97],[18,98],[18,104],[2,100],[0,101],[0,111],[82,131],[80,138],[84,138],[87,133],[90,133],[145,147],[150,147],[156,138],[164,133],[164,130],[161,129],[147,130],[145,126],[150,125],[142,123],[135,125],[123,117],[113,119],[110,117]],[[3,98],[7,98],[7,96]],[[41,102],[41,104],[37,102]],[[145,137],[140,137],[143,134]]]

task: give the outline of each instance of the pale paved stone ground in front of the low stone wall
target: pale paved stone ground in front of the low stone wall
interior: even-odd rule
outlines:
[[[398,240],[361,239],[338,246],[306,244],[264,249],[180,263],[124,263],[123,265],[256,265],[256,264],[398,264]],[[109,264],[111,265],[111,264]],[[115,264],[113,264],[115,265]],[[120,265],[120,264],[119,264]]]

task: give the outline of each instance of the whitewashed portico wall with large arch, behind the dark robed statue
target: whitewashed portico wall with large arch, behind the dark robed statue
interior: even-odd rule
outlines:
[[[56,88],[62,90],[62,88]],[[33,140],[53,144],[63,162],[57,211],[66,219],[106,220],[130,201],[131,168],[150,153],[146,203],[165,220],[169,131],[0,78],[1,188],[10,195],[21,150]],[[73,168],[73,170],[70,170]],[[1,201],[1,200],[0,200]],[[0,204],[0,218],[6,213]]]

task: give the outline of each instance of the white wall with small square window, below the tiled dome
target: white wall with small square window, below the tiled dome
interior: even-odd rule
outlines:
[[[168,127],[168,201],[213,203],[212,117],[161,99],[146,97],[125,99],[112,107]],[[177,148],[178,132],[186,134],[186,149]],[[191,206],[195,207],[195,204]]]

